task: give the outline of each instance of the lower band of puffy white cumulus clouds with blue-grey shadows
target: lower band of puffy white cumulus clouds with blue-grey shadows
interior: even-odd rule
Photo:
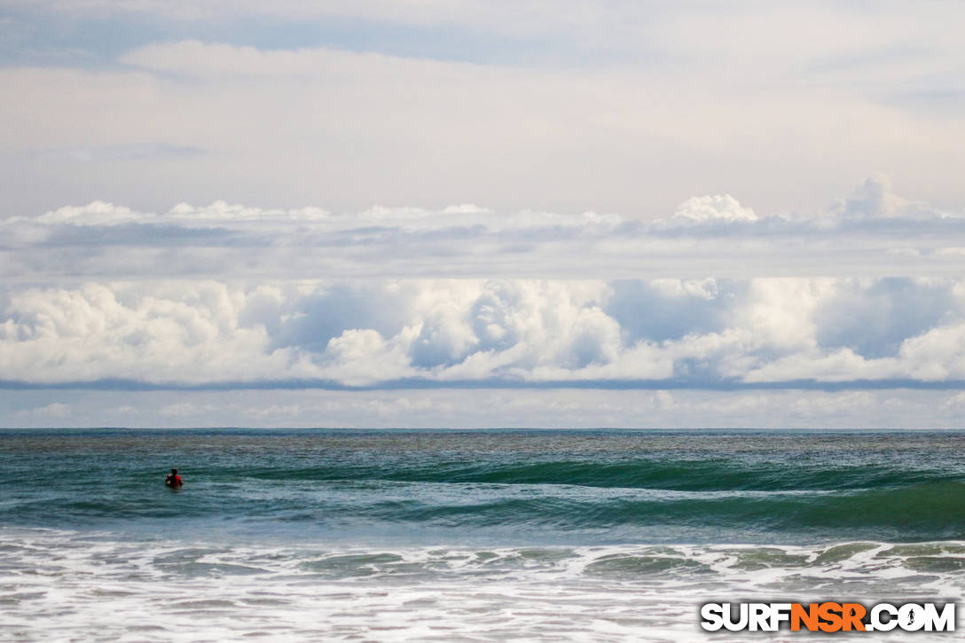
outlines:
[[[960,279],[90,283],[14,288],[3,320],[8,383],[727,388],[965,379]]]

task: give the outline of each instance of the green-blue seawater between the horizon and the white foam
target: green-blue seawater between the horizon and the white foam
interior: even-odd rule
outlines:
[[[185,487],[163,486],[178,467]],[[965,433],[0,431],[0,523],[431,545],[965,536]]]

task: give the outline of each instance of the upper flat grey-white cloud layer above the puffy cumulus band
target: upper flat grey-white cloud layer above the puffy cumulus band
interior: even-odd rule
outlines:
[[[0,219],[0,266],[21,283],[157,278],[954,276],[965,213],[861,183],[816,215],[731,195],[669,215],[372,207],[264,209],[217,201],[145,212],[95,201]]]

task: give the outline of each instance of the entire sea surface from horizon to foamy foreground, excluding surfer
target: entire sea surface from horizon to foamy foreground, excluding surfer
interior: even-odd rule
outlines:
[[[965,591],[961,432],[0,430],[0,481],[4,641],[823,640],[698,611]]]

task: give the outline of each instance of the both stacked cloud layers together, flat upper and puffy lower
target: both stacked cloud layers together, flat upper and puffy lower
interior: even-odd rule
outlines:
[[[885,177],[819,216],[97,201],[0,230],[8,387],[965,381],[965,216]]]

